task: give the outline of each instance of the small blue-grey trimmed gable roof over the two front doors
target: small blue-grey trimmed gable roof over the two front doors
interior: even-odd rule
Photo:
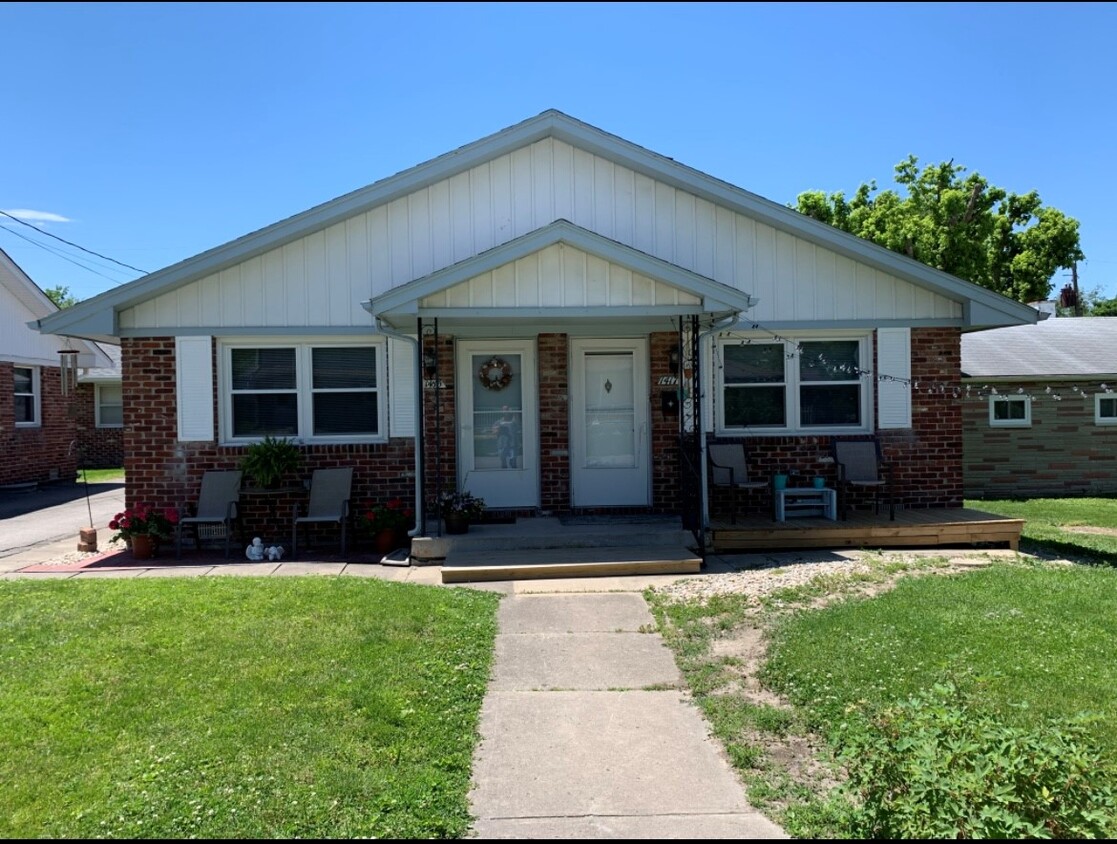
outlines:
[[[655,297],[645,300],[631,298],[628,303],[592,304],[589,298],[563,301],[561,296],[541,295],[533,305],[509,301],[506,305],[487,303],[451,305],[430,301],[431,297],[465,285],[478,276],[508,267],[515,261],[543,253],[556,244],[572,247],[580,253],[601,259],[634,276],[666,285],[677,291],[676,301],[665,304]],[[556,284],[557,279],[540,278],[537,284]],[[412,327],[418,319],[443,318],[469,323],[506,320],[560,320],[640,323],[663,317],[741,314],[756,305],[748,294],[715,281],[691,270],[641,252],[638,249],[610,240],[575,226],[569,220],[556,220],[523,237],[510,240],[466,260],[397,287],[369,301],[365,310],[394,328]]]

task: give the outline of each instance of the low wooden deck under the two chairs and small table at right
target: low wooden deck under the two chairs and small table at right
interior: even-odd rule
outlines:
[[[737,524],[727,520],[710,525],[707,550],[713,554],[794,548],[930,548],[963,545],[1020,544],[1023,519],[1006,519],[981,510],[925,509],[888,514],[852,511],[848,520],[789,518],[786,521],[760,514],[743,515]]]

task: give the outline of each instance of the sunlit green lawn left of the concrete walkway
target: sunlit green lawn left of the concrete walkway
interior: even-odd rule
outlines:
[[[497,602],[0,582],[0,836],[460,837]]]

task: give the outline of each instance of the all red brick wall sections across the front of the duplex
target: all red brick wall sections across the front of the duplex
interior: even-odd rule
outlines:
[[[675,512],[680,501],[678,477],[678,415],[663,410],[660,393],[677,387],[661,385],[669,370],[674,332],[650,335],[649,391],[651,399],[652,506],[658,512]],[[436,338],[423,337],[424,351],[433,351]],[[439,390],[423,373],[424,483],[432,493],[441,476],[443,489],[454,489],[457,478],[455,421],[455,341],[437,337]],[[213,442],[178,442],[175,407],[174,341],[170,337],[124,339],[125,385],[124,450],[130,505],[147,502],[179,506],[193,501],[202,473],[236,468],[242,447]],[[571,468],[569,437],[570,343],[565,334],[537,338],[541,449],[541,509],[562,511],[570,507]],[[214,352],[216,364],[216,352]],[[962,400],[960,387],[960,332],[916,328],[911,332],[913,426],[881,431],[885,455],[892,466],[897,500],[907,507],[957,507],[962,503]],[[2,375],[0,375],[2,377]],[[8,376],[10,378],[10,374]],[[9,382],[10,383],[10,382]],[[933,387],[933,389],[932,389]],[[214,430],[218,400],[214,395]],[[757,474],[770,477],[777,468],[804,476],[821,474],[833,481],[829,437],[748,438]],[[294,491],[248,492],[241,512],[248,534],[271,534],[283,539],[289,529],[290,507],[305,506],[298,483],[314,469],[353,466],[353,500],[356,506],[414,496],[414,454],[410,439],[388,443],[305,445],[305,464],[293,478]]]

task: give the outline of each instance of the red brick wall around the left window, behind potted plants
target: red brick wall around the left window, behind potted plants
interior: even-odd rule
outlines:
[[[124,468],[127,474],[126,502],[178,507],[197,501],[207,470],[236,469],[245,448],[216,442],[179,442],[175,404],[174,339],[172,337],[125,338]],[[217,430],[217,396],[213,403]],[[304,445],[304,463],[292,479],[296,491],[252,493],[241,498],[241,529],[246,536],[286,544],[290,535],[292,506],[305,512],[307,496],[298,489],[315,469],[352,466],[354,509],[389,498],[414,501],[414,449],[411,440],[386,443]],[[246,486],[247,482],[246,482]],[[299,531],[302,536],[302,530]],[[336,528],[327,531],[335,541]],[[307,537],[317,544],[319,537]],[[300,540],[302,544],[302,540]]]

